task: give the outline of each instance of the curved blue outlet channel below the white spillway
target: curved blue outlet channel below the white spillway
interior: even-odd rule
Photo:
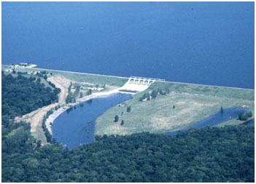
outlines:
[[[108,108],[132,99],[132,95],[115,93],[108,97],[93,98],[69,113],[62,113],[53,123],[53,138],[68,148],[94,141],[95,121]],[[114,119],[115,117],[113,117]],[[90,124],[88,124],[90,122]]]

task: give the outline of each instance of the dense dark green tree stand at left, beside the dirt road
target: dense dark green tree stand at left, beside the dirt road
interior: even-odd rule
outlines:
[[[36,80],[35,77],[22,75],[13,77],[2,72],[1,79],[2,116],[8,113],[14,118],[58,101],[60,90],[45,87],[40,78]]]

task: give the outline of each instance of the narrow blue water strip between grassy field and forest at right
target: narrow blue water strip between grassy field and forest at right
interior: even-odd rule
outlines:
[[[203,119],[202,121],[199,121],[198,123],[193,124],[190,127],[181,129],[179,131],[166,132],[166,134],[176,135],[179,132],[185,132],[185,131],[187,131],[187,129],[190,129],[190,128],[202,128],[202,127],[206,127],[206,126],[214,127],[217,124],[228,121],[230,119],[237,119],[238,113],[240,113],[240,112],[245,113],[247,111],[248,111],[247,108],[225,108],[223,113],[220,113],[220,111],[218,111],[217,113],[212,114],[212,116],[209,116],[208,118]],[[252,124],[254,124],[254,119],[253,119]]]

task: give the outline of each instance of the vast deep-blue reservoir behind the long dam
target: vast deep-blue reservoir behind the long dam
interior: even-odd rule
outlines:
[[[254,2],[2,2],[2,63],[254,88]]]

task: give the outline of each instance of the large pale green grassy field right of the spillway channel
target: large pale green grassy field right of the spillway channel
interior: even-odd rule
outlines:
[[[169,89],[170,93],[158,95],[155,100],[139,102],[139,97],[144,94],[141,92],[124,107],[115,106],[98,117],[96,135],[174,131],[206,119],[220,111],[221,106],[244,106],[252,111],[254,117],[254,90],[155,82],[145,92],[158,88]],[[130,113],[126,112],[128,106],[131,106]],[[116,115],[120,117],[118,122],[114,122]],[[120,125],[122,120],[125,121],[123,126]],[[239,123],[242,121],[231,120],[224,124]]]

